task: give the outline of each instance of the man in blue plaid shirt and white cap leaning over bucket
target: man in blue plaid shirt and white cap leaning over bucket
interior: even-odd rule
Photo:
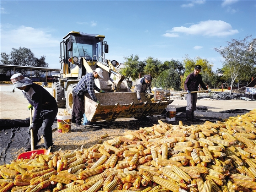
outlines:
[[[73,110],[71,121],[76,124],[77,128],[84,128],[84,126],[81,125],[82,118],[85,113],[84,94],[89,93],[92,100],[94,100],[97,103],[100,103],[94,94],[94,89],[97,92],[105,93],[105,91],[100,90],[100,88],[98,88],[94,82],[94,79],[97,79],[99,77],[103,78],[102,74],[102,69],[96,68],[95,72],[87,73],[85,76],[83,76],[78,82],[77,86],[73,89]],[[84,116],[84,118],[86,118],[86,116]],[[89,121],[87,122],[84,120],[84,122],[86,122],[85,125],[90,125]]]

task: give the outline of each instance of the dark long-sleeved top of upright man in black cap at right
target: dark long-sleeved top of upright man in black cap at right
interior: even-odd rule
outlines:
[[[199,84],[204,90],[207,90],[207,87],[203,83],[202,75],[198,74],[196,76],[193,72],[187,76],[186,81],[184,83],[184,88],[186,91],[198,91]]]

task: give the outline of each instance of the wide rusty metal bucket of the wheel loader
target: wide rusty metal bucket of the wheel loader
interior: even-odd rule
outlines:
[[[134,92],[95,93],[99,104],[94,102],[89,94],[85,94],[85,114],[87,120],[114,121],[118,118],[140,119],[146,116],[160,115],[173,100],[152,103],[150,98],[141,93],[142,103],[139,103]]]

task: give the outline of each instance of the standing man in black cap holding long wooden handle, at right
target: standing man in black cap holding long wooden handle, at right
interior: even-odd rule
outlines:
[[[207,87],[204,85],[202,76],[199,74],[201,72],[201,65],[196,65],[194,72],[190,73],[184,83],[184,88],[187,92],[187,108],[186,108],[186,117],[187,120],[194,122],[194,111],[196,110],[197,103],[197,93],[191,93],[191,91],[198,91],[199,84],[204,90],[207,90]]]

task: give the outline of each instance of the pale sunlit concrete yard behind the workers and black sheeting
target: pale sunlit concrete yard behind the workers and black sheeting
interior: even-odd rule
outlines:
[[[30,117],[27,109],[28,101],[24,98],[21,90],[15,89],[12,93],[11,84],[0,85],[0,119],[26,119]],[[46,88],[50,93],[52,88]],[[186,106],[185,98],[176,97],[171,106],[182,107]],[[256,109],[256,101],[245,100],[215,100],[215,99],[199,99],[197,106],[206,106],[209,111],[219,112],[231,109]],[[63,111],[64,109],[59,109]]]

